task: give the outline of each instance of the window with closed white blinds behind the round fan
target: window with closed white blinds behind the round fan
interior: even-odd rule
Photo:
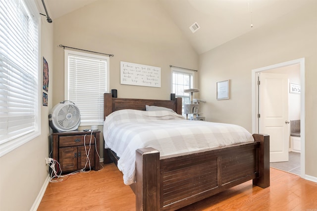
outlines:
[[[109,90],[109,57],[65,50],[65,99],[80,110],[81,124],[102,125]]]

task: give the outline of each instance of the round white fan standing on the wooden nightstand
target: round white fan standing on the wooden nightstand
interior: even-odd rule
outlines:
[[[49,124],[53,132],[77,130],[80,124],[80,111],[71,101],[62,101],[49,113]]]

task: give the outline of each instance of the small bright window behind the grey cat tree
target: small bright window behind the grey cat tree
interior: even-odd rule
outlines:
[[[182,98],[182,114],[184,115],[184,104],[190,104],[190,93],[185,89],[193,88],[194,72],[172,67],[172,93],[176,98]]]

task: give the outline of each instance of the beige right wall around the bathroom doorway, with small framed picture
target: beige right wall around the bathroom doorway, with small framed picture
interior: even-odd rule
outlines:
[[[317,1],[200,55],[202,111],[210,121],[252,131],[253,69],[305,57],[306,174],[317,177]],[[216,82],[231,80],[230,100],[216,100]],[[303,86],[303,85],[302,85]],[[304,131],[303,131],[304,132]]]

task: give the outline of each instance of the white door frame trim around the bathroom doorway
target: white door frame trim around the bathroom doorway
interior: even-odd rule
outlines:
[[[257,133],[256,122],[258,120],[257,114],[257,93],[258,73],[285,67],[289,65],[300,64],[301,75],[301,177],[305,178],[305,58],[299,58],[291,61],[286,61],[278,64],[273,64],[252,70],[252,133]]]

